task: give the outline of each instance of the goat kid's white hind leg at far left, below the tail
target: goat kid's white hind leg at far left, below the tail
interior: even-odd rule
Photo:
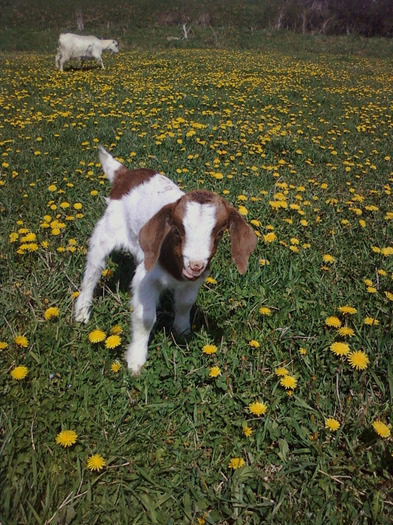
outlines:
[[[105,259],[115,248],[113,237],[105,233],[106,224],[99,222],[90,239],[87,262],[80,294],[75,303],[75,320],[87,323],[93,301],[94,288],[105,268]]]

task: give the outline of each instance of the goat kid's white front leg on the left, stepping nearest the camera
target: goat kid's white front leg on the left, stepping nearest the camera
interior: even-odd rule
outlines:
[[[142,263],[136,269],[132,289],[132,336],[125,360],[130,372],[137,375],[147,360],[149,337],[156,322],[156,308],[161,287],[154,280],[151,272],[145,270]]]

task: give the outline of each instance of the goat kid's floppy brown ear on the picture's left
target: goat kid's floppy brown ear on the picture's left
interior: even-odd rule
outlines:
[[[145,268],[148,272],[156,265],[162,243],[171,229],[169,219],[172,210],[173,204],[167,204],[139,232],[139,243],[145,253]]]

